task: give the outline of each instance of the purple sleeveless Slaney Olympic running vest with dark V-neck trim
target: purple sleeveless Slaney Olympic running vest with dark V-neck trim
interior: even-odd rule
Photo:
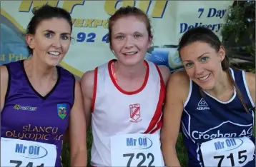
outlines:
[[[1,137],[56,145],[55,166],[61,165],[63,135],[74,104],[74,76],[57,66],[58,79],[46,96],[31,86],[24,61],[5,65],[9,73],[4,108],[1,111]]]

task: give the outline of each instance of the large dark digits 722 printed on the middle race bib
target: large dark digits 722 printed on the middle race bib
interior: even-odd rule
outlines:
[[[129,157],[129,160],[127,162],[127,167],[131,166],[132,163],[132,159],[134,158],[134,153],[125,153],[123,154],[123,157]],[[136,158],[139,159],[140,157],[142,157],[142,160],[138,163],[138,167],[155,167],[152,166],[152,163],[154,163],[154,155],[152,153],[147,153],[147,159],[151,159],[151,161],[149,162],[148,166],[142,166],[142,164],[146,161],[146,155],[144,153],[137,153]]]

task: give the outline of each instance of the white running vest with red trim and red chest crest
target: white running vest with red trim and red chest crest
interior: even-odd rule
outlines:
[[[137,91],[120,88],[109,61],[95,69],[92,98],[92,166],[111,166],[110,137],[124,133],[160,133],[165,88],[159,68],[145,61],[147,74]]]

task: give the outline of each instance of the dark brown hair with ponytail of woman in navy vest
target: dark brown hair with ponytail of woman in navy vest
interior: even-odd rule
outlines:
[[[184,48],[184,46],[187,46],[189,44],[192,44],[195,41],[202,41],[210,46],[212,46],[215,51],[220,50],[220,46],[222,46],[222,43],[220,39],[217,37],[216,34],[212,32],[212,30],[207,29],[205,27],[197,27],[193,29],[189,29],[187,32],[185,32],[182,36],[182,38],[179,40],[179,57],[180,57],[180,50]],[[235,87],[235,91],[237,91],[238,98],[240,99],[242,106],[244,106],[245,110],[248,112],[247,105],[242,97],[242,93],[240,92],[240,89],[237,86],[237,83],[235,83],[234,79],[232,79],[232,74],[230,73],[230,61],[225,56],[225,59],[222,61],[222,70],[227,73],[228,80],[232,83],[232,86]],[[201,90],[202,92],[202,90]]]

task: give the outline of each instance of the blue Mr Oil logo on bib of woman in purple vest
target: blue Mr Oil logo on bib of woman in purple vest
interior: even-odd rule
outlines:
[[[24,145],[21,143],[16,143],[15,152],[21,153],[21,156],[25,158],[43,158],[48,153],[42,146]]]

